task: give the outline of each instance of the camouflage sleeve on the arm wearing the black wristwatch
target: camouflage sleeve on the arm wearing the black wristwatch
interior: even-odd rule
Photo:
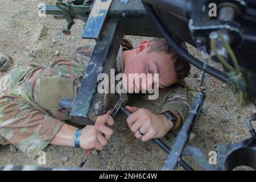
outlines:
[[[159,97],[156,100],[148,100],[147,96],[147,94],[141,95],[143,100],[147,100],[152,105],[157,106],[156,113],[162,114],[164,111],[170,110],[174,114],[179,114],[182,122],[187,118],[189,109],[192,105],[191,94],[179,85],[172,85],[168,86],[168,88],[159,89]]]

